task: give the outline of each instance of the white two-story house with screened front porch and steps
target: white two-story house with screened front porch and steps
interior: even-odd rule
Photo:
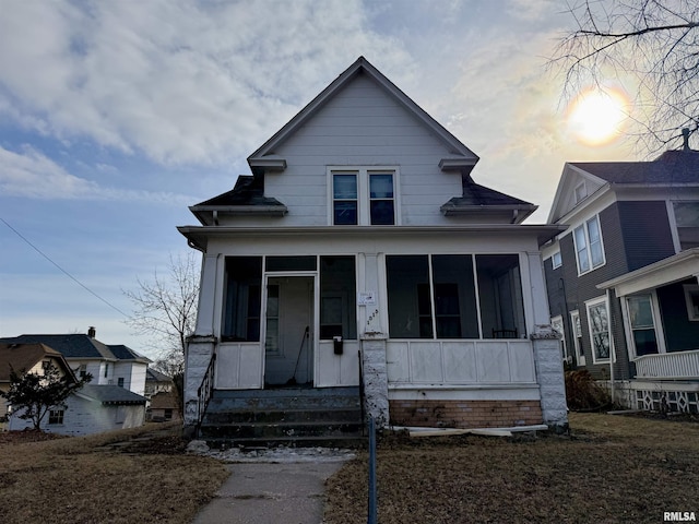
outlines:
[[[476,183],[477,162],[359,58],[248,157],[251,175],[191,206],[186,426],[252,437],[253,406],[286,394],[310,412],[332,392],[380,425],[565,425],[540,254],[562,228],[523,225],[536,206]],[[310,424],[282,418],[287,440]]]

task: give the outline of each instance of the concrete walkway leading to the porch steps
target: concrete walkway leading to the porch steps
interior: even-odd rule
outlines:
[[[230,477],[193,524],[322,524],[324,483],[343,461],[229,464]]]

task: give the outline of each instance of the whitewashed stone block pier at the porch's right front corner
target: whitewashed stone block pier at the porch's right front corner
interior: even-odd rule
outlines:
[[[536,367],[536,382],[542,397],[544,424],[562,433],[568,430],[566,382],[560,356],[560,334],[550,325],[536,325],[531,337]]]

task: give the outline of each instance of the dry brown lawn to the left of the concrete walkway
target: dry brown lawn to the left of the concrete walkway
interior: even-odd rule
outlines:
[[[182,454],[177,432],[149,425],[82,438],[0,433],[0,522],[191,522],[228,472]]]

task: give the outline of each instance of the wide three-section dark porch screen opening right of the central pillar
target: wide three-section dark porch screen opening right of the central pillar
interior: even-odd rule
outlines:
[[[392,338],[478,338],[478,301],[484,338],[525,336],[517,254],[389,255],[387,278]]]

